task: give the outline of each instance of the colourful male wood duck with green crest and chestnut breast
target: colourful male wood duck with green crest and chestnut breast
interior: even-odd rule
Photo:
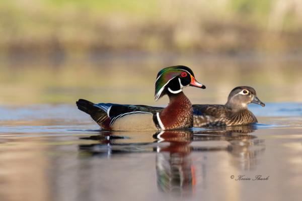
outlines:
[[[89,114],[101,128],[123,131],[155,131],[190,128],[193,126],[193,108],[182,88],[205,88],[195,80],[193,71],[186,66],[162,69],[155,82],[155,100],[167,94],[166,108],[118,104],[93,104],[79,99],[78,108]]]

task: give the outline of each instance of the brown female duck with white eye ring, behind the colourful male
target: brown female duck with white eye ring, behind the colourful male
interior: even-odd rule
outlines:
[[[194,127],[238,126],[257,123],[248,104],[265,106],[250,86],[234,88],[225,105],[193,105]]]

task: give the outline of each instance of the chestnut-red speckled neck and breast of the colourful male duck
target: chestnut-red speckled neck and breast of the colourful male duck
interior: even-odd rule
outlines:
[[[165,130],[192,127],[193,108],[189,98],[182,91],[169,92],[168,96],[170,103],[159,115]]]

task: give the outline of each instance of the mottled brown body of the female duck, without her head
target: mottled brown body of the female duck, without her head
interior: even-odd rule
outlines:
[[[221,127],[257,123],[249,110],[233,112],[224,105],[193,105],[194,127]]]

